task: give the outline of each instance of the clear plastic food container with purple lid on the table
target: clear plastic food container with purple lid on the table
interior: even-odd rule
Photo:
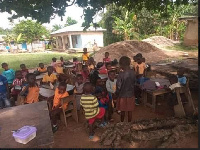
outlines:
[[[15,141],[22,144],[27,144],[36,137],[36,127],[24,126],[13,133]]]

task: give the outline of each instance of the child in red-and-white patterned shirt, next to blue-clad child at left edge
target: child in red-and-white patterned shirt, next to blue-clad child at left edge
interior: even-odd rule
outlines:
[[[25,82],[25,78],[23,78],[22,72],[20,70],[15,72],[15,80],[13,81],[11,90],[11,95],[13,97],[13,105],[17,101],[17,97],[22,90],[22,84]]]

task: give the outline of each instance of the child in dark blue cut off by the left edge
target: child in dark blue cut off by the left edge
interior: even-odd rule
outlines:
[[[10,90],[8,88],[8,80],[0,74],[0,109],[4,108],[4,104],[6,107],[10,107],[9,98]]]

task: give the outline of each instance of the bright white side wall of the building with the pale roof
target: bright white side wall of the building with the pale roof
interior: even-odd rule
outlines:
[[[94,40],[98,47],[103,47],[103,32],[81,33],[82,48],[91,48]]]

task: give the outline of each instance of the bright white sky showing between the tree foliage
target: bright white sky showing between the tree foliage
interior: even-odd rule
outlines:
[[[61,17],[56,16],[54,19],[52,19],[50,21],[50,23],[45,23],[43,25],[45,27],[47,27],[48,29],[52,29],[52,26],[54,24],[64,25],[68,16],[71,17],[72,19],[75,19],[76,21],[78,21],[78,23],[82,23],[84,21],[84,16],[82,16],[82,15],[83,15],[83,9],[76,6],[76,5],[72,5],[70,7],[67,7],[66,12],[65,12],[65,16],[63,16],[63,21],[61,21]],[[20,22],[20,20],[25,19],[24,17],[21,17],[21,18],[15,19],[14,23],[11,23],[8,20],[8,18],[10,16],[11,15],[7,12],[0,13],[0,20],[1,20],[0,27],[2,27],[3,29],[6,29],[6,28],[10,29],[14,26],[14,24],[17,24],[17,23]],[[81,16],[82,16],[82,18],[81,18]],[[29,18],[29,19],[31,19],[31,18]],[[99,21],[100,19],[101,19],[101,17],[97,16],[95,18],[95,21]]]

